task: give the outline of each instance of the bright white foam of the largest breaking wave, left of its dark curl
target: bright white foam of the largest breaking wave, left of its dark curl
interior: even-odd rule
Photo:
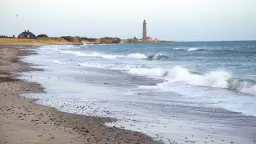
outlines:
[[[208,74],[193,74],[186,68],[175,66],[170,70],[159,68],[134,68],[128,70],[129,74],[137,74],[148,77],[165,78],[168,82],[186,82],[193,86],[210,86],[228,88],[228,80],[231,78],[225,71],[213,71]]]

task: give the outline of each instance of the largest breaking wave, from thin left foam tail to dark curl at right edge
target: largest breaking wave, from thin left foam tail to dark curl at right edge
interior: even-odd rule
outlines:
[[[232,74],[222,70],[211,71],[207,74],[198,74],[190,72],[186,68],[175,66],[170,70],[134,68],[127,72],[141,76],[164,78],[166,82],[184,82],[191,86],[236,90],[243,94],[256,96],[256,82],[253,80],[233,78]]]

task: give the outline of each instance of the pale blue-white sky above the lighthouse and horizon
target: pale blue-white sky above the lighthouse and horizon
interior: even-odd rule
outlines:
[[[16,16],[18,14],[18,16]],[[256,0],[0,0],[0,35],[256,40]]]

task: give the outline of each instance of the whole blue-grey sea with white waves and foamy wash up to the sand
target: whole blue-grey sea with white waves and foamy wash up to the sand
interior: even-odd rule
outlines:
[[[256,143],[256,42],[158,42],[42,46],[26,56],[44,71],[20,78],[24,94],[58,110],[164,143]],[[85,106],[86,110],[81,109]]]

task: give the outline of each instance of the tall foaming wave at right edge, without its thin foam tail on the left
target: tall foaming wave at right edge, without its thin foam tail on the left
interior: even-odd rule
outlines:
[[[175,66],[167,73],[165,77],[169,82],[185,82],[192,86],[208,86],[237,90],[243,94],[256,96],[256,82],[253,80],[233,78],[232,74],[226,71],[216,70],[207,74],[197,74],[185,68]]]

